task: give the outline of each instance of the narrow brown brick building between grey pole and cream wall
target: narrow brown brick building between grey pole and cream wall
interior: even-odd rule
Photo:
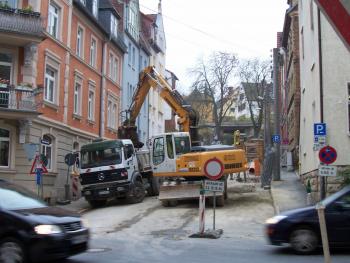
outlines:
[[[279,48],[282,159],[288,169],[299,168],[300,53],[298,1],[288,1]]]

